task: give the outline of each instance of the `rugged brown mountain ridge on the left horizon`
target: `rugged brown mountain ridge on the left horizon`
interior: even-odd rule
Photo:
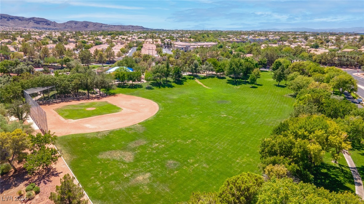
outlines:
[[[11,16],[0,14],[0,27],[12,28],[33,28],[42,30],[69,30],[69,31],[87,31],[87,30],[151,30],[138,25],[108,25],[94,23],[90,21],[67,21],[66,23],[57,23],[43,18],[31,17],[25,18],[20,16]]]

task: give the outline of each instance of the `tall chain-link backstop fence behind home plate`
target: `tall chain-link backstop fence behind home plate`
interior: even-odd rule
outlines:
[[[47,86],[47,87],[37,87],[37,88],[31,88],[24,90],[24,98],[25,102],[27,102],[30,105],[30,117],[34,121],[34,123],[39,127],[39,130],[46,134],[48,132],[48,124],[47,124],[47,114],[46,111],[44,111],[38,103],[33,100],[30,94],[33,93],[39,93],[43,90],[50,89],[54,86]]]

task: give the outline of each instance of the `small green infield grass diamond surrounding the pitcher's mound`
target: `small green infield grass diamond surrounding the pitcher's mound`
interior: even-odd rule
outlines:
[[[86,110],[87,108],[95,108],[94,110]],[[81,119],[89,118],[97,115],[105,115],[120,112],[122,109],[112,105],[107,101],[79,103],[76,105],[61,106],[54,109],[64,119]]]

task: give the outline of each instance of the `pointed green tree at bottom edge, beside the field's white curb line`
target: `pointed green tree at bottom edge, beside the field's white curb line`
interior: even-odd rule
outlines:
[[[49,197],[55,204],[87,204],[88,201],[82,199],[83,190],[79,185],[74,183],[75,178],[69,174],[60,179],[61,185],[56,186],[56,192],[51,192]]]

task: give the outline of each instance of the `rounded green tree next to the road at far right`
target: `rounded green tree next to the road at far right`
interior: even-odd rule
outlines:
[[[332,86],[333,91],[339,90],[340,96],[344,91],[357,91],[358,89],[356,80],[347,73],[334,77],[330,81],[330,85]]]

